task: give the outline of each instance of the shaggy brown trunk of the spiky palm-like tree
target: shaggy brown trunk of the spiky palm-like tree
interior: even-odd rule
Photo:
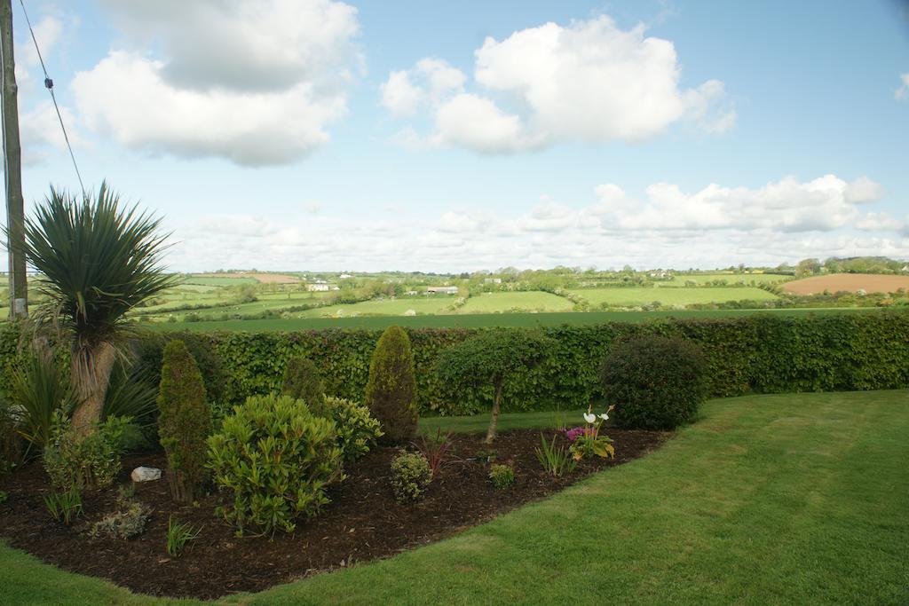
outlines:
[[[116,352],[110,343],[101,343],[81,356],[73,356],[70,376],[76,397],[73,429],[80,435],[88,435],[95,423],[101,421],[115,358]]]

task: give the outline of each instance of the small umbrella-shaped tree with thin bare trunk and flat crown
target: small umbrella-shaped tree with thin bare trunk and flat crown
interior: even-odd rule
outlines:
[[[440,382],[453,389],[492,385],[493,410],[486,431],[486,443],[495,440],[505,382],[517,371],[542,362],[552,340],[535,331],[493,329],[476,334],[439,353],[435,373]]]

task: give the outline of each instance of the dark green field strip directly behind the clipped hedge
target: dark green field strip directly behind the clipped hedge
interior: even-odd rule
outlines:
[[[327,328],[384,329],[392,324],[413,328],[487,328],[490,326],[559,326],[604,322],[646,322],[658,318],[729,318],[754,313],[800,317],[811,313],[881,313],[877,307],[837,307],[773,310],[680,310],[674,312],[464,313],[417,316],[360,316],[292,318],[289,320],[227,320],[223,322],[153,323],[155,331],[305,331]]]

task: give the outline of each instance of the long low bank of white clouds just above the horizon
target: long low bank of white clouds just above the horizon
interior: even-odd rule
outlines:
[[[846,200],[845,192],[859,181],[790,177],[756,188],[712,184],[694,194],[653,184],[644,201],[616,184],[601,184],[586,205],[544,196],[514,213],[455,208],[427,219],[402,211],[394,222],[328,212],[206,217],[175,225],[183,243],[169,260],[175,269],[193,271],[245,267],[255,259],[256,267],[275,270],[462,272],[504,265],[712,268],[853,254],[909,256],[905,222],[884,211],[864,213],[864,200]],[[811,214],[833,218],[812,220]]]

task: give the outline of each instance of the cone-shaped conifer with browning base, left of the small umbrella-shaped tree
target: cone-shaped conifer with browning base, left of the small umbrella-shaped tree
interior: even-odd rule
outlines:
[[[382,424],[385,442],[401,442],[416,432],[416,381],[410,339],[389,326],[375,345],[366,382],[366,406]]]

